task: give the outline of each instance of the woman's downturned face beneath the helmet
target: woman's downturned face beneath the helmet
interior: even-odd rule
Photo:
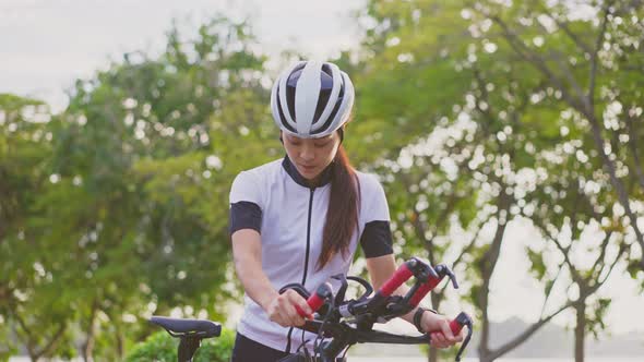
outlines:
[[[288,158],[298,172],[310,181],[314,181],[333,161],[339,146],[337,131],[320,138],[300,138],[284,132],[282,137]]]

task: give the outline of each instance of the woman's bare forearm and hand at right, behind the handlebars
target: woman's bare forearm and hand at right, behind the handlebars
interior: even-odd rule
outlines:
[[[391,278],[391,276],[396,272],[396,262],[394,260],[394,255],[389,254],[367,258],[367,270],[369,272],[373,290],[378,290],[380,286],[389,280],[389,278]],[[409,287],[403,283],[394,293],[398,295],[405,295],[408,290]],[[401,317],[414,324],[415,312],[416,309],[405,315],[402,315]],[[420,319],[420,325],[422,329],[428,333],[442,331],[442,335],[436,333],[431,334],[432,346],[434,347],[446,348],[463,340],[463,335],[454,336],[452,334],[449,319],[440,314],[424,313],[422,318]]]

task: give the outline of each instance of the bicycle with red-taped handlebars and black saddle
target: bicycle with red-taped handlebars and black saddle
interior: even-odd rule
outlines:
[[[393,292],[404,282],[415,277],[414,286],[405,295],[395,295]],[[298,327],[303,331],[317,335],[311,353],[302,343],[296,353],[282,359],[279,362],[300,361],[345,361],[348,349],[355,343],[395,343],[395,345],[426,345],[431,343],[431,333],[420,336],[394,335],[391,333],[374,330],[375,323],[386,323],[390,319],[404,315],[414,310],[420,301],[433,290],[445,277],[449,277],[454,288],[458,288],[456,277],[450,268],[443,264],[436,268],[418,258],[412,258],[402,264],[394,275],[380,287],[373,297],[373,287],[359,277],[337,275],[333,278],[339,280],[341,288],[333,295],[331,286],[322,283],[314,293],[309,293],[299,283],[284,286],[279,292],[294,289],[307,299],[311,310],[315,312],[312,321],[307,321]],[[365,292],[358,299],[345,300],[348,281],[356,281],[365,288]],[[305,313],[298,309],[298,312]],[[178,347],[178,361],[190,362],[192,355],[203,338],[218,336],[220,326],[205,319],[166,318],[153,316],[151,322],[164,327],[171,336],[181,338]],[[456,354],[456,361],[461,360],[473,334],[473,321],[466,313],[460,313],[451,321],[452,333],[460,334],[463,327],[468,333]],[[434,331],[436,333],[436,331]],[[331,340],[326,340],[331,338]],[[303,349],[302,349],[303,347]]]

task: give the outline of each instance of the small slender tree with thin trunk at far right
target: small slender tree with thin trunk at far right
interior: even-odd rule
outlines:
[[[522,213],[547,240],[528,249],[532,270],[546,292],[559,280],[570,280],[564,281],[565,291],[575,311],[575,361],[581,362],[586,334],[597,336],[606,327],[604,314],[611,300],[598,291],[630,246],[624,242],[628,221],[615,204],[608,177],[601,177],[601,160],[587,157],[594,149],[588,124],[571,123],[567,117],[559,120],[565,124],[562,142],[537,155],[535,167],[544,177]]]

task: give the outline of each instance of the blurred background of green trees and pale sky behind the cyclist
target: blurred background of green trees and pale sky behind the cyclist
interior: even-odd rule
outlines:
[[[641,360],[643,17],[637,0],[0,0],[0,360],[162,359],[153,314],[222,322],[200,358],[229,358],[228,192],[283,156],[270,86],[298,59],[354,80],[348,155],[385,188],[398,261],[455,270],[426,302],[476,316],[470,360]]]

